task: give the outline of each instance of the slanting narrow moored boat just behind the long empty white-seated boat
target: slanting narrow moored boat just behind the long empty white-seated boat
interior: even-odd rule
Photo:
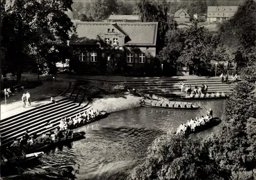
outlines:
[[[156,94],[153,94],[153,93],[148,93],[148,92],[143,92],[139,89],[135,89],[135,88],[131,88],[131,87],[125,87],[125,89],[133,94],[133,95],[136,95],[136,96],[140,96],[140,97],[143,97],[145,99],[150,99],[150,100],[164,100],[164,101],[169,101],[168,98],[165,98],[163,96],[159,96],[159,95],[156,95]]]

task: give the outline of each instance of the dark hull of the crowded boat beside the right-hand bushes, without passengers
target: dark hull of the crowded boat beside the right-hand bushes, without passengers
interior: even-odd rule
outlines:
[[[190,128],[187,128],[187,130],[185,131],[185,135],[189,135],[191,133],[197,133],[197,132],[200,132],[200,131],[203,131],[203,130],[206,130],[206,129],[209,129],[211,127],[214,127],[214,126],[217,126],[221,123],[221,119],[218,118],[218,117],[215,117],[215,118],[212,118],[209,122],[205,122],[204,125],[201,125],[201,126],[197,126],[195,128],[195,130],[191,130]],[[174,132],[176,134],[176,132]]]

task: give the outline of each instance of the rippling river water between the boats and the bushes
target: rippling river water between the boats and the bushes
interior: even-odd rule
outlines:
[[[224,100],[201,101],[201,107],[214,110],[215,117],[224,116]],[[153,140],[168,130],[176,129],[192,117],[206,114],[198,110],[156,109],[138,107],[112,113],[98,122],[75,129],[86,131],[86,139],[56,147],[37,162],[15,168],[10,179],[125,179],[146,156]],[[196,136],[218,132],[220,126]],[[2,171],[2,176],[7,172]],[[22,173],[23,176],[17,175]]]

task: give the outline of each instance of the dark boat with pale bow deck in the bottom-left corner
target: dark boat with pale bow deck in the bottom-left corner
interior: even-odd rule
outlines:
[[[30,162],[32,160],[40,158],[40,156],[44,155],[44,152],[34,152],[24,154],[22,151],[19,153],[14,152],[4,152],[1,153],[1,165],[9,166],[9,165],[16,165],[16,164],[23,164]]]

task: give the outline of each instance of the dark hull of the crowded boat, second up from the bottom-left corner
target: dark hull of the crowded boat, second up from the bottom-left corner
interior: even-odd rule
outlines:
[[[44,142],[44,143],[36,143],[36,145],[34,147],[28,147],[28,146],[23,146],[22,149],[26,152],[26,153],[32,153],[32,152],[36,152],[38,150],[42,151],[47,151],[59,144],[65,144],[65,143],[70,143],[79,139],[84,138],[84,135],[86,134],[86,132],[81,131],[81,132],[73,132],[72,136],[68,136],[65,138],[61,138],[61,139],[56,139],[55,141],[48,141],[48,142]]]

